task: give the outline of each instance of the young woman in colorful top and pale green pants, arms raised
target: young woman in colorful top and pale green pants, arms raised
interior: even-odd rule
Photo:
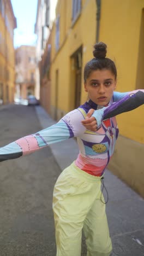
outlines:
[[[115,63],[105,57],[104,43],[94,45],[93,55],[84,71],[88,101],[57,124],[0,148],[0,160],[4,161],[77,137],[80,154],[60,174],[53,191],[57,256],[81,255],[82,229],[87,256],[110,255],[112,245],[100,187],[118,137],[115,115],[144,103],[144,90],[114,92],[117,71]]]

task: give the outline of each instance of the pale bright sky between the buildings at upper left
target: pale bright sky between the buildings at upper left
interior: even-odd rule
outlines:
[[[14,47],[33,45],[37,40],[34,24],[37,15],[38,0],[11,0],[17,28],[14,30]]]

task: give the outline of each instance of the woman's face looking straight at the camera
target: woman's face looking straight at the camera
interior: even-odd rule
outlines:
[[[101,106],[106,106],[110,102],[115,89],[115,75],[109,69],[92,71],[85,83],[88,97]]]

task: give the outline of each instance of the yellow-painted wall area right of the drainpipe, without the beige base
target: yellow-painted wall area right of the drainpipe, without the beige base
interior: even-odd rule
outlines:
[[[144,80],[142,83],[137,81],[140,43],[142,44],[141,54],[144,53],[143,34],[140,38],[140,32],[144,31],[144,22],[142,24],[143,29],[141,28],[143,8],[143,0],[101,1],[99,39],[107,44],[107,56],[116,63],[118,72],[117,91],[144,89]],[[144,59],[141,58],[139,62],[139,66],[143,69]],[[144,72],[141,70],[142,77],[143,74]],[[143,84],[143,88],[141,84]],[[143,110],[144,106],[141,106],[133,112],[124,113],[117,117],[121,135],[144,143]]]

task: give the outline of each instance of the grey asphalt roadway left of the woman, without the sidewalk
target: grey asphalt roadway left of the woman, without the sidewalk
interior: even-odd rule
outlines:
[[[41,130],[34,107],[0,109],[1,144]],[[55,256],[52,192],[60,169],[49,147],[1,162],[0,255]]]

